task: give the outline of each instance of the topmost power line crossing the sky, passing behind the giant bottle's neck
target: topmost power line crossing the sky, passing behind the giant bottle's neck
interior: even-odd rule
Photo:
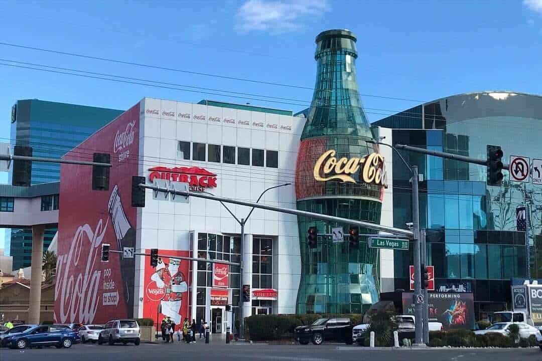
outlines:
[[[314,88],[311,87],[304,87],[304,86],[296,86],[292,84],[283,84],[283,83],[275,83],[275,82],[266,82],[261,80],[252,80],[248,78],[240,78],[240,77],[233,77],[233,76],[224,76],[224,75],[218,75],[218,74],[209,74],[209,73],[201,73],[198,71],[191,71],[191,70],[184,70],[184,69],[176,69],[176,68],[167,68],[162,67],[159,65],[150,65],[150,64],[142,64],[142,63],[136,63],[136,62],[129,62],[129,61],[122,61],[122,60],[115,60],[111,58],[104,58],[99,56],[92,56],[92,55],[85,55],[85,54],[78,54],[75,52],[67,52],[67,51],[59,51],[59,50],[53,50],[53,49],[44,49],[44,48],[37,48],[37,47],[29,47],[27,45],[20,45],[20,44],[12,44],[12,43],[6,43],[6,42],[0,42],[0,45],[6,45],[9,47],[16,47],[16,48],[22,48],[22,49],[29,49],[29,50],[36,50],[36,51],[45,51],[45,52],[51,52],[54,54],[60,54],[60,55],[68,55],[68,56],[75,56],[75,57],[82,57],[92,60],[100,60],[100,61],[107,61],[112,63],[119,63],[119,64],[125,64],[125,65],[134,65],[137,67],[145,67],[145,68],[152,68],[152,69],[160,69],[160,70],[168,70],[168,71],[176,71],[178,73],[186,73],[186,74],[194,74],[194,75],[202,75],[202,76],[210,76],[210,77],[216,77],[216,78],[223,78],[228,80],[236,80],[236,81],[244,81],[244,82],[250,82],[250,83],[260,83],[260,84],[266,84],[266,85],[272,85],[272,86],[279,86],[279,87],[288,87],[288,88],[296,88],[296,89],[307,89],[307,90],[314,90]],[[360,94],[361,96],[369,96],[369,97],[377,97],[382,99],[391,99],[391,100],[402,100],[402,101],[410,101],[410,102],[417,102],[417,103],[424,103],[424,101],[421,100],[414,100],[414,99],[405,99],[405,98],[399,98],[399,97],[391,97],[391,96],[379,96],[379,95],[371,95],[371,94]]]

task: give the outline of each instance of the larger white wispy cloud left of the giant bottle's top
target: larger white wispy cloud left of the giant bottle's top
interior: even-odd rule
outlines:
[[[327,9],[326,0],[248,0],[237,10],[235,29],[283,34],[301,29],[305,20]]]

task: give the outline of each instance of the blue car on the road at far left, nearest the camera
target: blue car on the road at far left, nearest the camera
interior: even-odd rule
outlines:
[[[73,344],[79,343],[79,335],[64,325],[41,325],[4,338],[4,344],[12,349],[26,349],[27,347],[56,346],[69,349]]]

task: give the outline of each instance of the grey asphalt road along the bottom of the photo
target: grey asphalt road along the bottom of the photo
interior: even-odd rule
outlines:
[[[261,360],[261,361],[542,361],[542,352],[531,349],[428,349],[369,350],[357,345],[264,345],[264,344],[141,344],[74,345],[71,349],[0,349],[2,361],[138,361],[138,360]]]

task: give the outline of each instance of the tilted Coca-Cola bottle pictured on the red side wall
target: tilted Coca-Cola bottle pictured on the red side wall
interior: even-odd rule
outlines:
[[[134,247],[135,249],[135,229],[126,218],[117,185],[113,187],[111,196],[109,196],[108,209],[115,231],[115,238],[117,239],[117,250],[122,251],[124,247]],[[126,302],[127,317],[132,317],[135,263],[133,258],[125,258],[122,253],[117,254],[120,259],[120,274],[122,278],[122,290],[124,291],[122,296],[124,296]]]

